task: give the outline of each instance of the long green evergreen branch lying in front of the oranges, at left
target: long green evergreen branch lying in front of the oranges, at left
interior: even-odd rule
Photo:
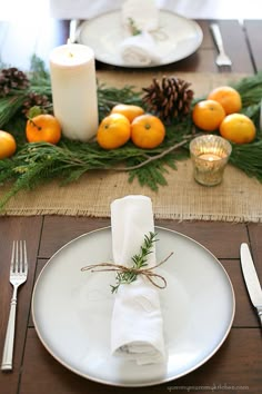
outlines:
[[[0,160],[0,181],[2,184],[10,180],[14,181],[10,193],[0,201],[0,209],[18,191],[28,189],[29,185],[32,188],[53,178],[61,179],[61,184],[66,185],[75,181],[91,169],[119,170],[117,165],[121,162],[127,164],[125,167],[121,167],[121,170],[132,174],[130,180],[138,177],[141,184],[148,184],[153,190],[157,190],[158,185],[165,184],[161,175],[163,171],[161,167],[163,166],[159,155],[163,158],[179,146],[181,145],[172,146],[172,149],[168,148],[167,152],[163,154],[161,147],[147,150],[137,148],[132,144],[127,144],[125,147],[110,151],[104,151],[97,142],[81,144],[66,139],[59,145],[48,142],[26,144],[11,159]],[[155,156],[158,160],[154,160]],[[139,161],[139,166],[132,166],[133,160]],[[172,167],[171,161],[173,162],[173,160],[174,157],[167,159],[163,164]],[[154,161],[155,165],[153,166]],[[143,180],[139,173],[134,171],[141,167],[144,167],[144,173],[141,173],[141,176],[144,174]]]

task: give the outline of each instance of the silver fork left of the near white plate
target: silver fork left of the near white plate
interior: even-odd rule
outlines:
[[[12,370],[12,355],[16,328],[17,294],[18,287],[22,285],[28,277],[28,258],[26,240],[14,240],[12,244],[12,256],[10,265],[10,283],[13,286],[13,294],[10,305],[10,314],[2,354],[2,371]]]

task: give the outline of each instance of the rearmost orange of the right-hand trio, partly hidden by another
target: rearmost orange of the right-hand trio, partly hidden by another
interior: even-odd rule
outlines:
[[[241,96],[238,90],[231,88],[230,86],[221,86],[213,89],[209,96],[208,100],[214,100],[221,104],[224,108],[225,114],[239,112],[242,108]]]

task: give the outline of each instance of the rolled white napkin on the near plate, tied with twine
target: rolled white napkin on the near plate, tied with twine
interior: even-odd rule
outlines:
[[[144,235],[154,232],[152,203],[145,196],[127,196],[111,204],[112,248],[115,264],[132,266]],[[155,264],[155,248],[149,255]],[[139,365],[164,361],[163,319],[159,289],[142,275],[120,285],[111,321],[111,351]]]

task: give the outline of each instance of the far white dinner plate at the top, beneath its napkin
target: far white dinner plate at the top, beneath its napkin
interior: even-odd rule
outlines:
[[[159,11],[160,27],[153,32],[157,42],[159,63],[147,67],[169,65],[192,55],[203,39],[200,26],[184,17],[170,11]],[[120,43],[124,38],[121,24],[121,11],[103,13],[83,22],[77,33],[78,42],[91,47],[97,60],[121,67],[141,68],[144,66],[129,66],[120,55]]]

